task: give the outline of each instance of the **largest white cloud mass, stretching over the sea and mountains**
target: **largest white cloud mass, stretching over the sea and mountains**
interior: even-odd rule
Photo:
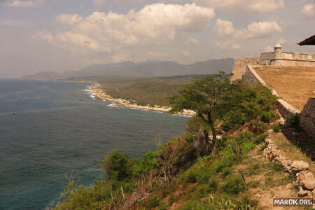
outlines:
[[[64,25],[66,31],[52,35],[52,43],[80,53],[127,52],[127,48],[134,45],[172,43],[183,31],[203,31],[209,27],[214,15],[212,8],[195,3],[156,3],[139,11],[130,10],[127,14],[94,12],[85,18],[77,14],[61,14],[55,20]]]

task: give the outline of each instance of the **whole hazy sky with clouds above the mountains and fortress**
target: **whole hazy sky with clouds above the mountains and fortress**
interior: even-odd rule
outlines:
[[[0,78],[90,64],[258,57],[313,34],[314,0],[0,0]]]

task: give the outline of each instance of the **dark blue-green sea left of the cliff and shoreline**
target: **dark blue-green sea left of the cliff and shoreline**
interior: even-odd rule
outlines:
[[[180,134],[189,119],[116,107],[87,84],[0,80],[0,209],[35,210],[59,201],[69,174],[91,186],[115,149],[141,157]]]

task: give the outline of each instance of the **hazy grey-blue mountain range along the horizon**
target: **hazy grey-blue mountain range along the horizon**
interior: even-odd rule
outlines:
[[[76,71],[65,71],[64,73],[56,72],[38,72],[32,75],[23,76],[28,79],[70,79],[86,78],[94,76],[179,76],[191,74],[212,74],[218,71],[232,72],[234,59],[209,59],[204,62],[194,64],[178,64],[176,62],[120,62],[115,64],[97,64],[86,66]]]

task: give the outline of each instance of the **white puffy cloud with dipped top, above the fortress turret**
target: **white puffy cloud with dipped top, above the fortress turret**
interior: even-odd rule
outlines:
[[[228,20],[216,20],[216,33],[235,39],[258,38],[281,33],[282,29],[276,22],[252,22],[246,29],[235,29],[233,23]]]

